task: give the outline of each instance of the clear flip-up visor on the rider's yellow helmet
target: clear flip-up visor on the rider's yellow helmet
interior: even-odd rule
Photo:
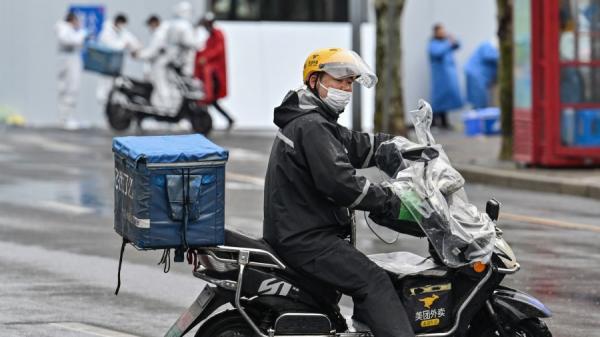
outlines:
[[[320,70],[338,80],[355,77],[355,81],[366,88],[372,88],[377,84],[377,76],[373,70],[354,51],[338,53],[330,62],[323,63]]]

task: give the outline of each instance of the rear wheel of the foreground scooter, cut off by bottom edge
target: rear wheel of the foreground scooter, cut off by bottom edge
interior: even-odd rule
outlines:
[[[215,315],[196,333],[196,337],[252,337],[254,335],[254,331],[244,318],[233,310]]]

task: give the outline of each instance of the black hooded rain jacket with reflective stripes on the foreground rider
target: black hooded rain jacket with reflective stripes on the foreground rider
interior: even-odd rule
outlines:
[[[387,188],[356,175],[391,136],[348,130],[338,114],[306,89],[275,108],[280,128],[265,178],[263,237],[286,262],[302,265],[350,233],[351,209],[399,209]]]

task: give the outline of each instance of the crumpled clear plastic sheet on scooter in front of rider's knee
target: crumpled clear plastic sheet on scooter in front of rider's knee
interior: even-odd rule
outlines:
[[[401,279],[409,275],[443,277],[448,273],[445,266],[410,252],[394,252],[368,255],[378,266]]]

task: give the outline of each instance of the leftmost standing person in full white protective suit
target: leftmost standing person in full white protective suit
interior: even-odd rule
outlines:
[[[77,16],[70,12],[55,25],[58,37],[58,112],[61,124],[67,129],[76,129],[74,119],[77,94],[81,79],[81,48],[86,31],[79,25]]]

